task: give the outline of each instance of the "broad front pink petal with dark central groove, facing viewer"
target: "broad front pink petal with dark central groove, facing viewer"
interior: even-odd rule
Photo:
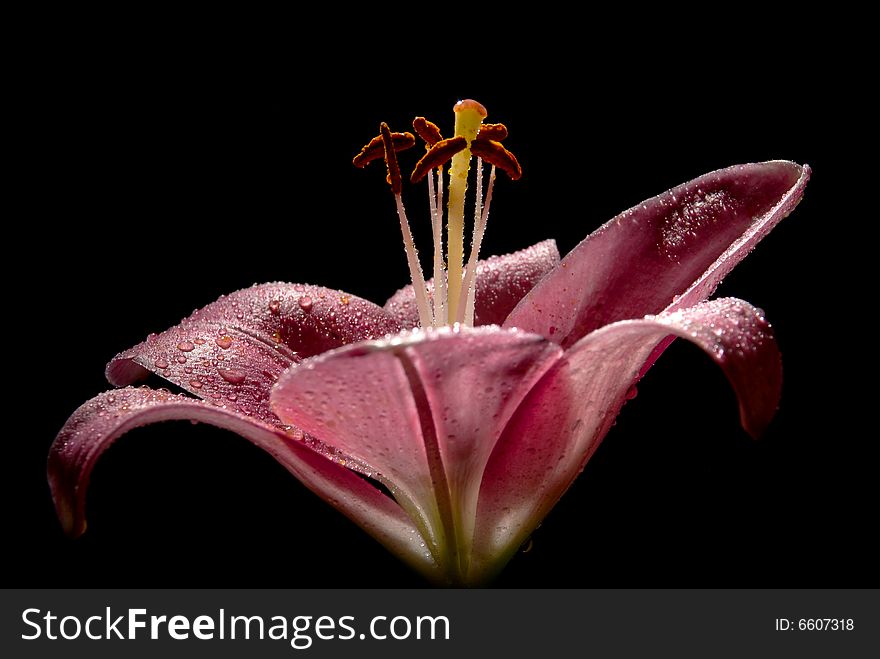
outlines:
[[[429,529],[435,550],[466,552],[492,448],[561,354],[498,327],[415,332],[304,362],[282,376],[272,409],[375,469]],[[449,537],[450,525],[460,537]]]

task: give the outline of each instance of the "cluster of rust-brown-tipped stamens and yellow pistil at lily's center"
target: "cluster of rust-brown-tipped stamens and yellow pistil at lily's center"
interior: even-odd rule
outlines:
[[[422,327],[440,327],[462,323],[473,325],[474,296],[476,288],[477,260],[480,245],[489,218],[495,170],[502,169],[516,180],[522,169],[516,157],[501,144],[507,137],[504,124],[484,124],[486,108],[477,101],[459,101],[455,112],[455,135],[443,139],[440,129],[424,117],[413,120],[413,130],[425,142],[425,155],[416,163],[410,176],[415,184],[428,179],[428,205],[431,210],[434,240],[434,290],[425,283],[418,251],[413,242],[409,220],[403,205],[403,179],[397,162],[397,153],[415,146],[412,133],[393,133],[388,124],[379,126],[379,135],[366,144],[352,161],[364,167],[373,160],[383,158],[388,170],[387,182],[397,205],[403,245],[406,250],[410,277],[415,291],[419,322]],[[470,254],[464,266],[465,198],[471,170],[471,159],[476,157],[476,193],[474,195],[474,221],[472,226]],[[452,161],[448,170],[448,183],[444,167]],[[489,183],[483,190],[483,162],[491,165]],[[444,189],[448,190],[446,217],[444,218]],[[446,225],[446,260],[443,258],[443,226]],[[448,264],[448,268],[446,267]]]

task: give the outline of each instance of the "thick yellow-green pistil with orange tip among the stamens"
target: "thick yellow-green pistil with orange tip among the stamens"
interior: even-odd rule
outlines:
[[[455,135],[462,136],[472,144],[480,124],[486,118],[486,108],[474,100],[459,101],[455,111]],[[467,175],[470,169],[470,149],[459,151],[452,158],[449,171],[449,216],[448,216],[448,302],[447,313],[450,318],[458,317],[461,298],[462,261],[464,260],[464,198],[467,192]]]

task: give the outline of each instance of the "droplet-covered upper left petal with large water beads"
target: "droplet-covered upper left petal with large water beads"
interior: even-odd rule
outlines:
[[[262,284],[224,296],[120,353],[107,366],[107,379],[122,386],[152,371],[200,398],[278,423],[269,390],[288,367],[398,329],[380,307],[354,295]]]

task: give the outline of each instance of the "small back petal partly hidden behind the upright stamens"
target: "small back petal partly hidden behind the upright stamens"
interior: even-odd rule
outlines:
[[[513,254],[478,261],[474,324],[500,325],[523,295],[558,263],[559,250],[555,240],[545,240]],[[433,279],[428,282],[428,292],[433,299]],[[391,296],[385,303],[385,311],[404,329],[418,327],[419,311],[412,285]]]

